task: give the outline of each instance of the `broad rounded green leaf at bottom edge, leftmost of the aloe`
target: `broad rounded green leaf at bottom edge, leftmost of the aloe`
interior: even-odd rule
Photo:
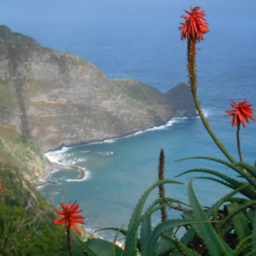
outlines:
[[[113,242],[103,239],[90,239],[85,243],[85,252],[90,256],[120,256],[122,254],[122,248],[113,245]],[[136,255],[136,254],[135,254]]]

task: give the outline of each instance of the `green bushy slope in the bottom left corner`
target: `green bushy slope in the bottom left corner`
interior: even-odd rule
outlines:
[[[17,167],[1,163],[0,177],[0,254],[67,255],[65,230],[52,224],[56,216],[49,202]],[[81,243],[74,233],[72,239],[79,254]]]

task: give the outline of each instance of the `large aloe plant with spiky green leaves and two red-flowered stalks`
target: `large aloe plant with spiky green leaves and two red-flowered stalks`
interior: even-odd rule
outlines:
[[[233,109],[227,111],[232,116],[232,125],[237,125],[236,140],[240,161],[235,158],[219,142],[212,131],[197,96],[196,76],[196,44],[204,39],[209,32],[208,24],[204,18],[205,13],[200,7],[190,8],[183,15],[185,22],[179,27],[181,39],[188,42],[188,71],[189,84],[195,102],[195,108],[201,121],[208,131],[212,141],[224,154],[226,160],[208,156],[184,158],[182,160],[208,160],[214,161],[230,168],[236,177],[230,177],[223,172],[213,169],[193,168],[182,172],[177,177],[188,173],[201,173],[204,176],[193,177],[187,186],[189,204],[168,197],[165,194],[165,185],[179,183],[176,180],[165,179],[163,150],[160,153],[159,180],[150,186],[137,202],[132,212],[128,228],[106,228],[102,230],[116,230],[125,236],[125,247],[117,247],[115,241],[93,239],[85,242],[84,253],[90,256],[179,256],[179,255],[212,255],[212,256],[256,256],[256,166],[242,161],[240,143],[240,125],[245,126],[248,119],[253,119],[252,105],[242,102],[233,102]],[[206,176],[207,175],[207,176]],[[208,176],[209,175],[209,176]],[[231,191],[217,199],[212,206],[202,207],[195,195],[193,181],[204,178],[212,183],[220,183]],[[159,188],[159,198],[150,204],[143,212],[148,195],[153,189]],[[168,218],[167,208],[179,211],[180,218]],[[152,213],[161,212],[161,222],[152,226]],[[177,236],[177,230],[183,227],[182,235]]]

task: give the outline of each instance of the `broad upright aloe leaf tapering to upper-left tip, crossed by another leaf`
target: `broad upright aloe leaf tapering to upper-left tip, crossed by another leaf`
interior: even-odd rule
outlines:
[[[212,224],[210,224],[210,222],[208,221],[206,212],[203,211],[199,201],[195,196],[192,182],[193,179],[190,180],[188,184],[189,202],[196,218],[200,218],[202,222],[205,221],[204,223],[192,224],[193,227],[195,227],[195,230],[197,230],[199,236],[201,236],[201,238],[205,242],[207,249],[212,256],[233,255],[230,247],[220,236],[218,236],[216,231],[213,229]]]

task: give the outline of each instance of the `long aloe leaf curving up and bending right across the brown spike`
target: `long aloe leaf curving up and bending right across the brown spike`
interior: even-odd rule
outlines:
[[[126,256],[136,255],[137,253],[137,227],[142,222],[140,217],[142,215],[143,207],[148,198],[148,195],[151,193],[153,189],[158,187],[160,184],[165,184],[165,183],[182,184],[181,182],[177,182],[172,179],[163,179],[163,180],[157,181],[145,191],[141,199],[137,202],[137,206],[135,207],[134,211],[131,214],[131,219],[128,225],[128,230],[127,230],[126,240],[125,240]]]

